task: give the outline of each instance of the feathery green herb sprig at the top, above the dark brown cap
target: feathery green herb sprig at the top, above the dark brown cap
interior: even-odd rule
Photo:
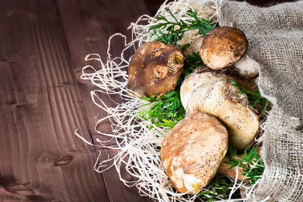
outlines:
[[[171,22],[166,17],[159,15],[155,17],[159,23],[150,26],[149,28],[150,37],[156,36],[155,40],[159,40],[163,43],[180,46],[177,41],[184,36],[186,31],[198,29],[200,35],[205,35],[211,29],[216,27],[216,24],[211,23],[209,19],[199,19],[197,17],[197,11],[192,10],[191,8],[186,15],[192,17],[193,20],[188,22],[184,22],[181,19],[178,20],[169,8],[166,8],[165,10],[174,19],[174,21]],[[163,30],[166,30],[166,32]]]

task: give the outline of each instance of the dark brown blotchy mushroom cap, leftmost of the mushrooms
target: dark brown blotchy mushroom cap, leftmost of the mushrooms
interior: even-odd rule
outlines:
[[[160,97],[177,85],[184,65],[181,48],[160,41],[142,44],[128,67],[127,87],[147,97]]]

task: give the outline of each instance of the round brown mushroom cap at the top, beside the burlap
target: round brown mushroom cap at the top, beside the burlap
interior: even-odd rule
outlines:
[[[215,70],[237,62],[246,52],[248,41],[245,34],[233,27],[217,27],[203,38],[200,57]]]

